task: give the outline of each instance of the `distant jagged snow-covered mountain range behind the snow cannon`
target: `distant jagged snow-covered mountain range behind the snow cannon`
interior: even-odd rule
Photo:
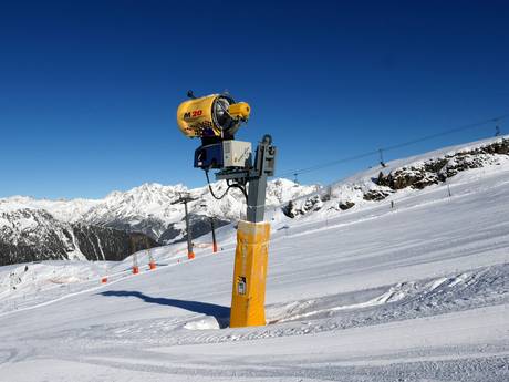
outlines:
[[[224,183],[212,184],[218,194]],[[308,195],[316,186],[288,179],[269,182],[268,208]],[[118,260],[143,247],[186,237],[184,205],[188,194],[193,237],[210,230],[210,217],[221,226],[246,209],[240,192],[216,200],[208,187],[144,184],[113,192],[103,199],[49,200],[25,196],[0,199],[0,265],[42,259]]]

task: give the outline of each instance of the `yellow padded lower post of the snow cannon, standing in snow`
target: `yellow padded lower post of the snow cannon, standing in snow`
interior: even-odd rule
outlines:
[[[269,223],[239,221],[231,295],[231,328],[266,324],[269,239]]]

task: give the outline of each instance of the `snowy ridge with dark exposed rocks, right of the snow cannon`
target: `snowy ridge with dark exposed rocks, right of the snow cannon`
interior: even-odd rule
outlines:
[[[323,218],[374,202],[391,203],[402,195],[432,185],[446,185],[448,179],[468,169],[505,166],[508,163],[508,137],[446,147],[356,174],[312,195],[291,200],[283,213],[292,218],[302,218],[304,215]]]

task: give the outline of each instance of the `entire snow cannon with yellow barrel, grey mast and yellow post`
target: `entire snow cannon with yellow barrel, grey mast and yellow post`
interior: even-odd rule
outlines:
[[[237,229],[230,327],[264,326],[266,278],[269,256],[270,224],[263,221],[267,178],[274,175],[277,149],[272,137],[263,136],[254,151],[250,142],[236,141],[235,134],[251,113],[246,102],[235,102],[229,94],[211,94],[190,100],[177,110],[177,124],[187,137],[201,138],[195,151],[195,167],[205,171],[211,195],[224,198],[231,188],[246,197],[246,220]],[[227,188],[216,195],[209,171]]]

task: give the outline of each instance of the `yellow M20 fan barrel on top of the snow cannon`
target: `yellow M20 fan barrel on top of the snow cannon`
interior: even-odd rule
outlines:
[[[211,94],[183,102],[177,109],[177,124],[190,138],[232,140],[250,113],[246,102],[236,103],[229,95]]]

